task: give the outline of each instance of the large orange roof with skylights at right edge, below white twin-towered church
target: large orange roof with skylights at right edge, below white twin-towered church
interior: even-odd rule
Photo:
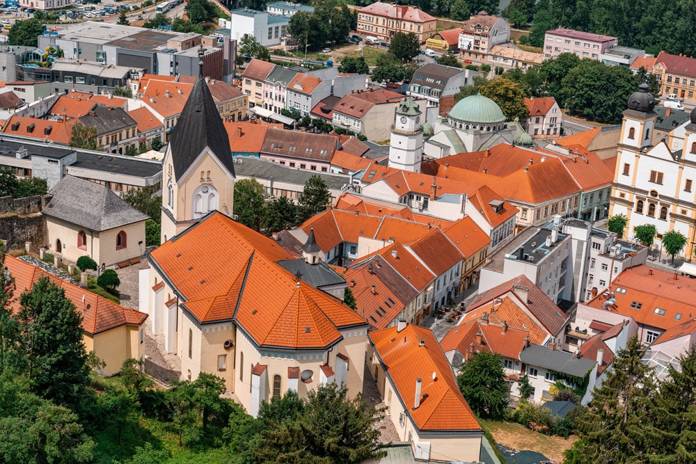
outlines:
[[[692,282],[683,275],[644,264],[626,269],[611,283],[610,291],[615,298],[611,312],[633,317],[644,326],[663,330],[673,328],[681,319],[688,319],[689,313],[696,314],[696,286],[691,288]],[[622,290],[617,291],[617,288]],[[601,309],[607,300],[602,290],[585,305]],[[663,314],[661,310],[664,310]]]

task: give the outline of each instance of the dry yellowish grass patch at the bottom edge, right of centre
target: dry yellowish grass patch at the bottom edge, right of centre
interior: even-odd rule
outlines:
[[[575,435],[571,435],[569,438],[562,438],[532,432],[530,429],[512,422],[481,420],[481,423],[491,431],[491,435],[496,439],[496,442],[518,450],[530,449],[539,451],[547,458],[558,462],[563,461],[563,451],[570,448],[578,440]]]

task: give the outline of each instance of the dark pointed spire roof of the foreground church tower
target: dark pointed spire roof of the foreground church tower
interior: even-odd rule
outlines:
[[[169,141],[174,173],[177,178],[180,178],[193,161],[196,161],[205,147],[213,152],[213,155],[233,176],[235,175],[230,137],[205,79],[199,76]]]

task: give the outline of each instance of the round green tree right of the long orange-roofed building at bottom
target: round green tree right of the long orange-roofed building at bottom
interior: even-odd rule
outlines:
[[[507,383],[502,356],[485,350],[476,353],[462,365],[457,384],[477,416],[491,419],[505,416]]]

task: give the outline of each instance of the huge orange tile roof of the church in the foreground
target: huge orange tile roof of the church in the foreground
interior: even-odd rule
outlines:
[[[212,241],[218,245],[208,246]],[[234,319],[259,346],[326,348],[342,338],[340,328],[365,324],[276,264],[291,258],[272,239],[218,212],[150,253],[193,317]]]

